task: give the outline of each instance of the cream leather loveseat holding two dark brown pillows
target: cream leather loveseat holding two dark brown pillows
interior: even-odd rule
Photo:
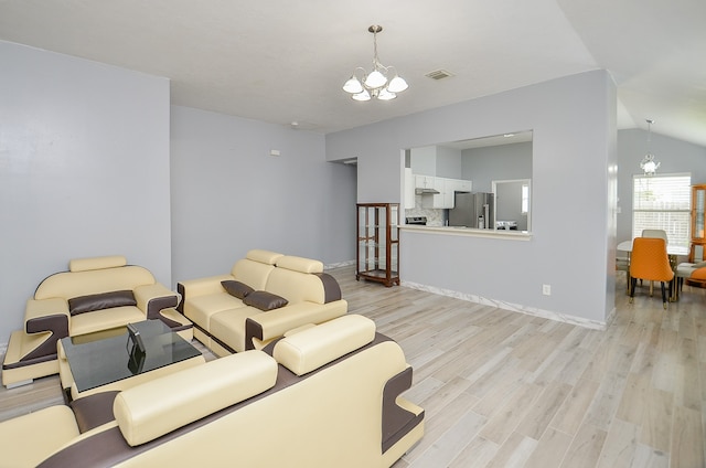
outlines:
[[[252,291],[236,297],[226,291],[227,283]],[[263,249],[249,251],[227,275],[179,281],[176,288],[179,311],[193,322],[194,337],[220,357],[261,349],[288,330],[347,311],[339,284],[321,262]],[[255,301],[253,291],[266,299]],[[281,306],[274,304],[277,298],[287,304],[270,309]]]

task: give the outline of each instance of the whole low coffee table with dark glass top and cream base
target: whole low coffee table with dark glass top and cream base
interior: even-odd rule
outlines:
[[[104,333],[67,337],[58,341],[58,373],[66,398],[126,390],[141,382],[205,362],[203,354],[161,320],[131,323],[145,351],[130,339],[127,327]],[[92,339],[93,338],[93,339]]]

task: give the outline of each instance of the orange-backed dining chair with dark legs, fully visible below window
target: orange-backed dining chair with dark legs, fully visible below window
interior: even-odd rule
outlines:
[[[662,304],[666,309],[667,300],[664,283],[674,279],[674,272],[666,255],[666,242],[659,237],[635,237],[630,255],[630,302],[635,295],[638,279],[660,281],[662,284]]]

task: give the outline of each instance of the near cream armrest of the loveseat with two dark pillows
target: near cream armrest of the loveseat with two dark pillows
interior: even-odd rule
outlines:
[[[269,341],[307,323],[322,323],[347,312],[344,299],[329,304],[298,302],[249,317],[245,321],[245,349],[255,349],[253,339]]]

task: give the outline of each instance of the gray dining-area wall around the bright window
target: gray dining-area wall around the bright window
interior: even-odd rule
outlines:
[[[692,173],[692,183],[706,183],[706,148],[655,134],[652,127],[650,151],[660,161],[659,174]],[[640,161],[648,152],[648,131],[618,132],[618,241],[632,238],[632,178],[642,174]]]

